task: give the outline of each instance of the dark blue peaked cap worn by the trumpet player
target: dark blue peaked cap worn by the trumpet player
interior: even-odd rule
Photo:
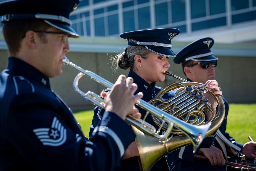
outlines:
[[[49,25],[79,37],[71,27],[69,14],[77,8],[79,0],[11,0],[0,3],[1,22],[43,20]]]

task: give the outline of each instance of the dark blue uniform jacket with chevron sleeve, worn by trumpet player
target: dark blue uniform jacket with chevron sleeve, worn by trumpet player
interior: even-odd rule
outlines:
[[[10,57],[0,81],[0,170],[113,170],[134,140],[128,124],[105,112],[87,142],[49,79],[22,60]]]

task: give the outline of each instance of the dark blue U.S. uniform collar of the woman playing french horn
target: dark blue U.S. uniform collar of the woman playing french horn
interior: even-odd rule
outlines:
[[[138,85],[138,88],[140,88],[143,92],[147,92],[149,94],[155,94],[155,86],[156,83],[153,82],[152,85],[150,85],[148,82],[146,82],[143,78],[141,78],[140,76],[138,76],[135,72],[133,72],[132,70],[130,70],[129,74],[127,77],[132,77],[134,80],[134,83],[136,83]]]

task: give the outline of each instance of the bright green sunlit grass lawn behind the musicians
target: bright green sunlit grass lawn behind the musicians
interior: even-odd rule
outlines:
[[[85,136],[88,137],[93,117],[93,110],[77,111],[74,116],[82,127]],[[227,118],[227,132],[237,142],[246,143],[250,135],[256,141],[256,104],[229,104]]]

